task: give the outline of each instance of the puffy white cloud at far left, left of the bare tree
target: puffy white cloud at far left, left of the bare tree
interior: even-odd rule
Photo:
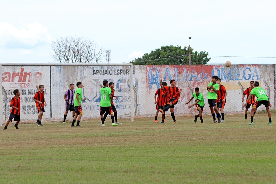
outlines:
[[[39,23],[22,24],[21,28],[16,28],[12,24],[0,22],[1,47],[29,49],[50,42],[48,29]]]

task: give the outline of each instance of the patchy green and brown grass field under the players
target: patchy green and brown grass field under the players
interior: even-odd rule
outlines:
[[[266,114],[256,114],[254,125],[244,115],[226,115],[225,123],[203,119],[34,123],[19,130],[10,123],[0,131],[0,183],[276,182],[276,114],[272,125]]]

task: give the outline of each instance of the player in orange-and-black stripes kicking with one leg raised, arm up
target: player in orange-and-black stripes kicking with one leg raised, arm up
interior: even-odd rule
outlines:
[[[176,118],[174,116],[174,106],[177,104],[179,96],[182,92],[182,89],[178,89],[178,87],[176,87],[176,81],[170,80],[170,84],[171,86],[166,86],[164,87],[162,84],[162,80],[160,80],[160,86],[161,88],[164,88],[166,90],[167,93],[169,93],[169,103],[168,104],[164,104],[163,109],[159,109],[159,112],[161,112],[162,114],[164,114],[166,111],[168,111],[170,109],[171,112],[171,116],[173,118],[173,123],[176,124]]]

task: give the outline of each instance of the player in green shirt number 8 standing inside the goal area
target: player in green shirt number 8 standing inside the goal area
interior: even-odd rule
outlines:
[[[117,124],[114,123],[114,115],[113,115],[113,110],[111,107],[111,104],[113,103],[113,98],[111,95],[111,89],[108,88],[108,81],[104,80],[103,85],[104,85],[104,87],[100,89],[100,93],[101,93],[100,115],[101,115],[101,120],[102,120],[101,125],[105,126],[104,125],[104,113],[107,112],[108,114],[111,115],[111,124],[113,126],[117,126]]]

